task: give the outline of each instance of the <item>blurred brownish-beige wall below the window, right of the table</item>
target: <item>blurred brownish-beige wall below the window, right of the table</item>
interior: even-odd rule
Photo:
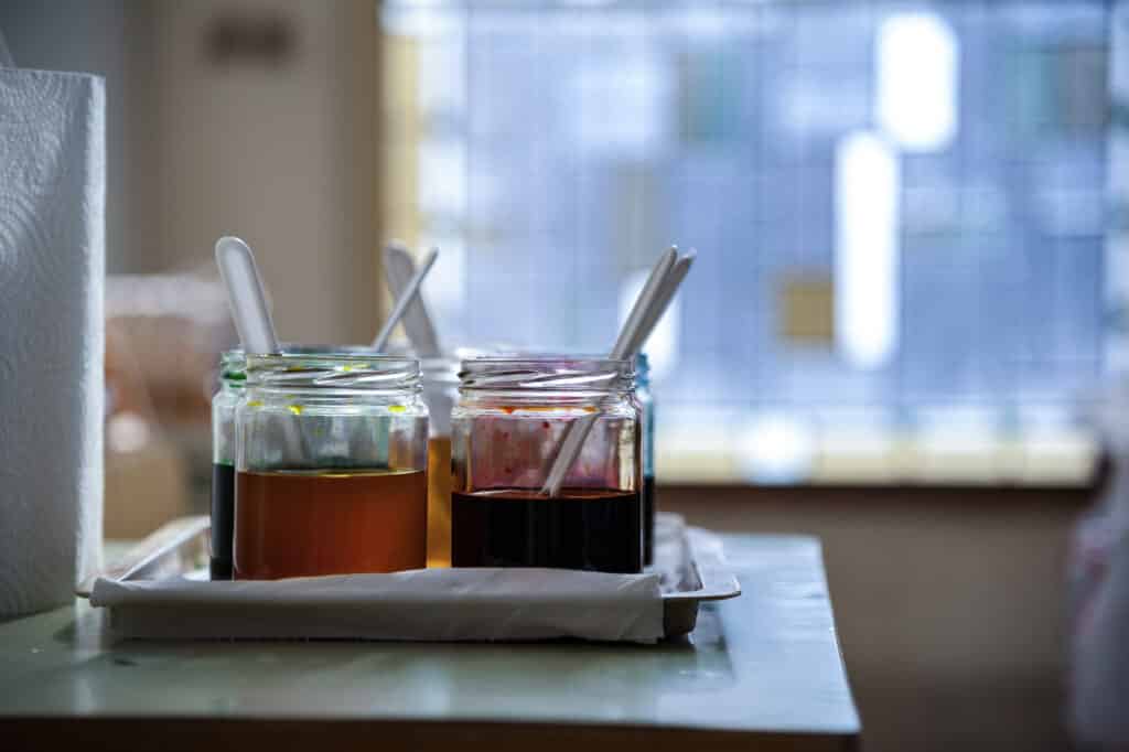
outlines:
[[[664,489],[723,531],[824,545],[865,749],[1062,750],[1070,492]]]

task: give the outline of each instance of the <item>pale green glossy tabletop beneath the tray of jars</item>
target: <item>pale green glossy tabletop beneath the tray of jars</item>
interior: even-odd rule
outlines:
[[[167,750],[270,737],[287,749],[378,738],[541,752],[606,749],[624,734],[656,749],[852,745],[859,722],[819,543],[725,540],[743,595],[656,646],[122,641],[79,601],[0,623],[0,738],[151,749],[156,734]]]

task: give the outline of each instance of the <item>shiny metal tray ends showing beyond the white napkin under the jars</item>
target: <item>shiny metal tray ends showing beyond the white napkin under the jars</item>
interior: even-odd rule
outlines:
[[[181,517],[149,535],[112,566],[81,583],[78,595],[89,597],[97,577],[115,580],[187,576],[207,579],[210,522],[205,516]],[[663,591],[663,632],[667,638],[693,631],[699,605],[741,595],[737,578],[725,563],[719,539],[688,527],[679,515],[659,514],[655,525],[655,565]]]

